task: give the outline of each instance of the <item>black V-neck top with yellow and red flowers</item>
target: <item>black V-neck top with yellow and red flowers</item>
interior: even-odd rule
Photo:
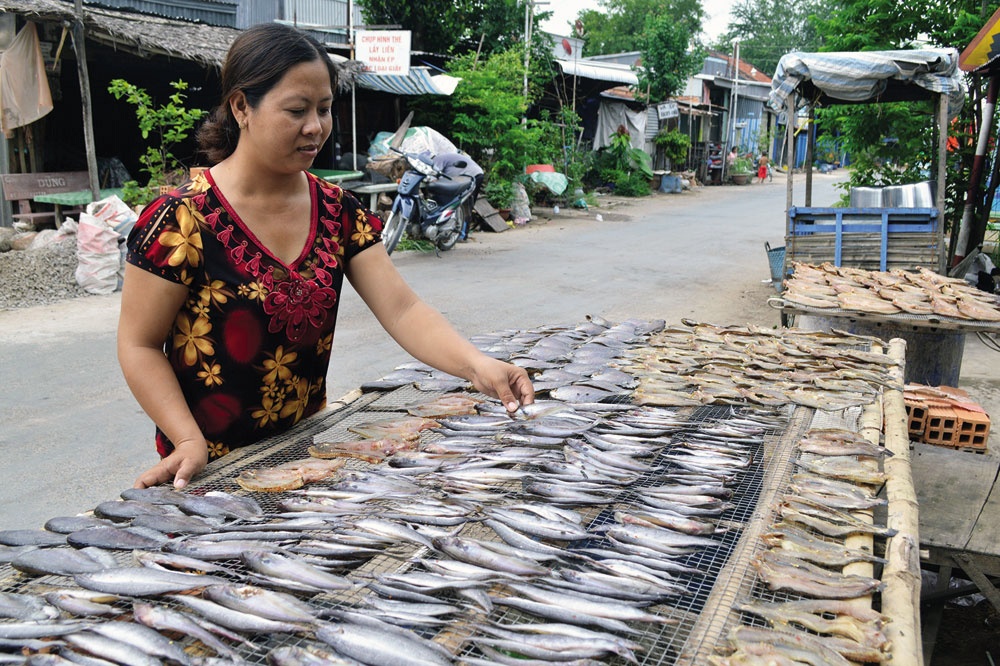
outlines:
[[[343,267],[381,241],[382,224],[338,186],[307,176],[312,222],[291,264],[257,240],[211,172],[150,203],[129,234],[130,264],[188,288],[164,351],[210,459],[326,405]],[[156,448],[173,450],[159,428]]]

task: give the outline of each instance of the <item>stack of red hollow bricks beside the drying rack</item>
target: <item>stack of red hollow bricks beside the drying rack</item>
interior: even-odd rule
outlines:
[[[990,417],[962,389],[907,384],[903,398],[911,440],[986,452]]]

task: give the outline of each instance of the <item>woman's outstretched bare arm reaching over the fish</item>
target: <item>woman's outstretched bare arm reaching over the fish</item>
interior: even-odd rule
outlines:
[[[411,356],[472,382],[508,411],[535,400],[528,373],[476,349],[410,288],[379,243],[347,263],[347,278],[375,318]]]

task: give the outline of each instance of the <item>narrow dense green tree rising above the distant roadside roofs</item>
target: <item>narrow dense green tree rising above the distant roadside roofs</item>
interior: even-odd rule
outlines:
[[[642,39],[639,90],[648,101],[673,97],[683,90],[688,77],[701,69],[704,53],[691,48],[691,32],[683,22],[666,14],[646,21]]]

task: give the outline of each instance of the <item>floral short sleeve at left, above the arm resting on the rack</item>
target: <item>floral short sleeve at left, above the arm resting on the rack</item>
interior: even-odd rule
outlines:
[[[193,269],[204,263],[200,217],[187,199],[155,199],[129,233],[126,261],[171,282],[188,283]]]

